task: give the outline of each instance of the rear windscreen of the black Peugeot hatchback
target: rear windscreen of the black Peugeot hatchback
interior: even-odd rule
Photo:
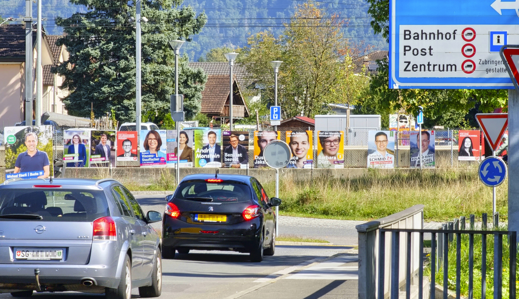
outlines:
[[[189,180],[180,184],[174,197],[213,203],[238,203],[250,201],[251,196],[250,187],[244,183],[235,181],[210,183],[205,180]]]

